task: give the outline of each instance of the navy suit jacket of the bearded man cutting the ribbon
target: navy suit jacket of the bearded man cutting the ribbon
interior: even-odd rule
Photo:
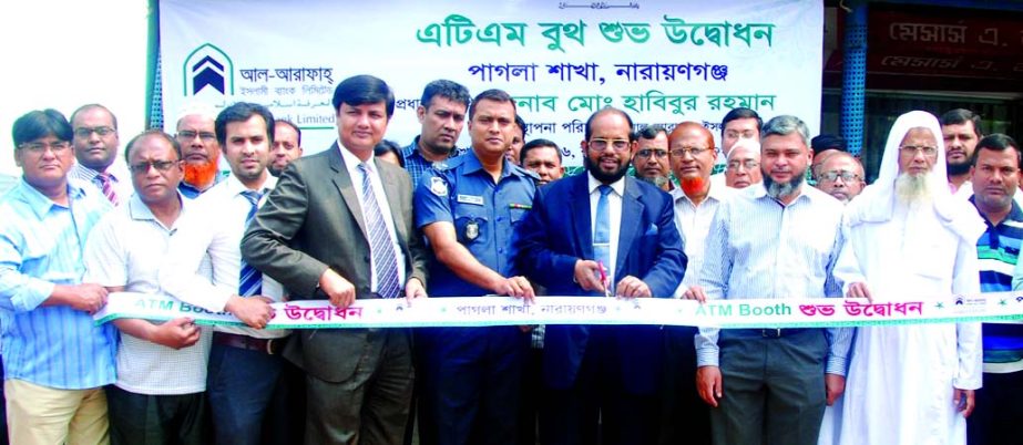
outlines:
[[[589,174],[540,187],[533,209],[522,224],[518,266],[551,296],[599,296],[573,280],[575,261],[593,259]],[[622,225],[615,282],[626,276],[642,279],[654,297],[671,298],[685,273],[686,256],[675,226],[668,194],[627,176],[622,198]],[[559,390],[574,385],[591,327],[549,325],[544,339],[543,374]],[[612,328],[618,351],[621,386],[631,394],[651,394],[661,372],[659,327]],[[614,382],[612,382],[614,384]]]

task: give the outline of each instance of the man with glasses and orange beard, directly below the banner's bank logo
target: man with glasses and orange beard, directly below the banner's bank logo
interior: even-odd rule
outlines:
[[[221,144],[214,132],[216,113],[205,106],[185,110],[177,120],[175,138],[181,144],[185,176],[177,187],[195,199],[227,176],[221,174]]]

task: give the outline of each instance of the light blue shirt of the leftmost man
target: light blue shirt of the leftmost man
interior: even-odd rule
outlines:
[[[110,201],[70,179],[61,206],[24,179],[0,197],[0,332],[4,379],[59,390],[114,382],[117,331],[69,306],[42,307],[57,284],[79,284],[82,250]]]

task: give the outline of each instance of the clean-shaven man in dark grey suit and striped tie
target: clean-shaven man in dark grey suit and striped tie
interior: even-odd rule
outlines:
[[[376,162],[395,111],[381,80],[334,92],[339,144],[293,162],[242,241],[246,261],[293,300],[426,297],[427,257],[412,226],[408,174]],[[400,444],[412,389],[408,330],[304,330],[285,356],[306,370],[307,444]]]

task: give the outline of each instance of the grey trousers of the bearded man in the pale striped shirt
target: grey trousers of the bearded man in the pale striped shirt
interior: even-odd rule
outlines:
[[[724,397],[710,410],[715,445],[817,444],[828,342],[820,329],[781,333],[722,330]]]

